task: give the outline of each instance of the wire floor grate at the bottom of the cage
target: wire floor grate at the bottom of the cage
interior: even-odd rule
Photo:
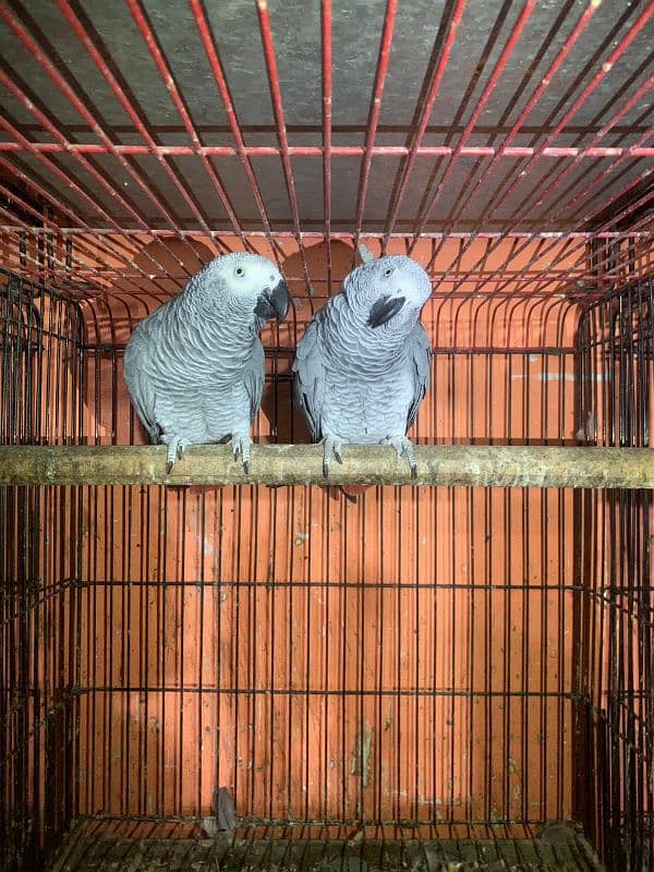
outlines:
[[[362,833],[363,831],[360,831]],[[294,868],[364,872],[366,869],[460,870],[460,872],[597,872],[581,837],[547,843],[529,828],[510,835],[497,825],[451,827],[377,826],[355,843],[347,827],[259,826],[208,839],[184,824],[83,822],[52,865],[52,872],[96,872],[113,864],[133,870],[243,870]]]

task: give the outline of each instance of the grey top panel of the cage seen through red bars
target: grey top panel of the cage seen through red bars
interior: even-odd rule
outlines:
[[[647,0],[10,2],[0,172],[62,226],[72,213],[96,229],[639,229],[652,13]]]

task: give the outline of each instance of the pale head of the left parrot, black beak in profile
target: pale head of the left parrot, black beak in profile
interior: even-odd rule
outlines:
[[[245,252],[210,261],[192,284],[194,293],[199,292],[205,303],[227,303],[232,312],[263,322],[283,320],[291,299],[275,264],[267,257]]]

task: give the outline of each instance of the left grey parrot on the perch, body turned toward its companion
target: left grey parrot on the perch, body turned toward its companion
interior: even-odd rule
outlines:
[[[228,254],[137,325],[125,348],[125,382],[150,440],[168,445],[168,472],[187,445],[228,436],[249,471],[264,387],[258,335],[272,316],[286,317],[289,300],[270,261]]]

